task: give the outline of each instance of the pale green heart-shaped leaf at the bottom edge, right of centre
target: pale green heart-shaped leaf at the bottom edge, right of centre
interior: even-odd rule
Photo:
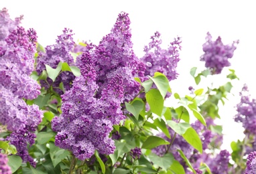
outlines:
[[[153,162],[154,165],[158,165],[162,167],[165,171],[167,171],[174,161],[174,156],[170,153],[167,153],[163,157],[159,157],[153,153],[149,155],[149,159]]]

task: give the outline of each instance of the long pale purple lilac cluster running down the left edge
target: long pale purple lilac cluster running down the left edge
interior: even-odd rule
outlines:
[[[19,19],[11,21],[6,9],[0,11],[0,19],[0,23],[9,25],[2,26],[9,33],[0,45],[0,123],[12,131],[5,140],[15,145],[17,155],[34,165],[27,143],[34,143],[42,112],[35,104],[28,106],[23,98],[32,100],[40,94],[40,85],[29,77],[34,70],[37,35],[34,29],[25,31],[15,25]]]

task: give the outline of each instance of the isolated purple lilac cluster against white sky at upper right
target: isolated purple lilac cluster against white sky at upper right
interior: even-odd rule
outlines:
[[[224,67],[230,66],[229,59],[233,57],[239,41],[233,41],[232,45],[223,45],[220,36],[212,41],[212,35],[207,33],[206,43],[202,45],[204,54],[200,61],[205,62],[205,67],[211,70],[212,74],[220,74]]]

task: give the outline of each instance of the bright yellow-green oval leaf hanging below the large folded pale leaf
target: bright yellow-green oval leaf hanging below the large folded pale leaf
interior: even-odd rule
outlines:
[[[146,93],[146,100],[150,106],[151,112],[157,114],[158,116],[162,115],[162,110],[164,108],[164,99],[160,94],[159,90],[151,89]]]

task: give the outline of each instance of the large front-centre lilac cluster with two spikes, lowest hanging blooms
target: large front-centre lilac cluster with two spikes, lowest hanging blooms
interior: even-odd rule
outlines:
[[[109,133],[113,124],[119,124],[125,116],[121,110],[121,76],[115,76],[97,98],[97,73],[90,56],[82,54],[81,64],[82,75],[62,95],[62,114],[52,120],[52,130],[57,132],[56,146],[84,160],[92,157],[95,150],[105,155],[114,153],[115,143]]]

